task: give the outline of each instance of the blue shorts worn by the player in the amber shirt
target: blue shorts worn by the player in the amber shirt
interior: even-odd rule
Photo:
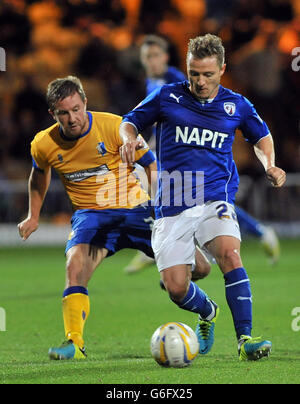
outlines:
[[[133,209],[81,209],[71,220],[72,231],[67,252],[77,244],[91,244],[108,250],[107,256],[123,248],[143,251],[153,258],[151,207],[139,205]]]

